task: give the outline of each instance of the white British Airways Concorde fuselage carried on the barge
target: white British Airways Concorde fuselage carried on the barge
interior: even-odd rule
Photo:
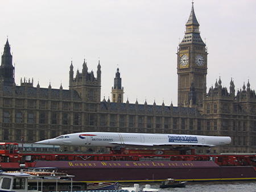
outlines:
[[[217,146],[230,144],[230,137],[156,133],[81,132],[38,141],[38,144],[92,147],[164,147],[170,145]]]

